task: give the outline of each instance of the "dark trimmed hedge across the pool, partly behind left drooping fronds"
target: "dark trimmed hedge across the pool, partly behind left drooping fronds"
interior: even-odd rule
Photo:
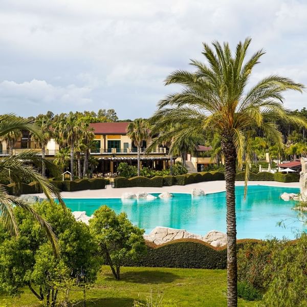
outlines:
[[[107,181],[103,178],[92,178],[92,179],[77,179],[77,180],[53,180],[50,181],[59,191],[81,191],[81,190],[96,190],[104,189]],[[9,194],[17,194],[15,184],[10,183],[5,186]],[[41,193],[40,186],[34,181],[29,184],[21,183],[20,193],[21,194],[35,194]],[[18,193],[19,194],[19,193]]]

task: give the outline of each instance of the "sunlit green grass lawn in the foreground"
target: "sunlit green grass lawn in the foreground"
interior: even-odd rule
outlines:
[[[122,268],[121,280],[102,267],[96,284],[86,291],[87,307],[131,307],[134,300],[145,302],[152,293],[153,299],[163,295],[163,302],[171,307],[225,307],[226,270]],[[82,291],[72,294],[82,300]],[[78,306],[83,304],[78,304]],[[254,302],[239,299],[240,307],[254,306]],[[1,307],[41,306],[35,296],[25,289],[19,298],[0,295]],[[162,306],[160,306],[162,307]]]

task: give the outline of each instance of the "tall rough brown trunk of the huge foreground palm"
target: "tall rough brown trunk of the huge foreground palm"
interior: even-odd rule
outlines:
[[[237,259],[235,217],[235,163],[236,150],[231,137],[222,136],[225,156],[226,205],[227,205],[227,306],[237,306]]]

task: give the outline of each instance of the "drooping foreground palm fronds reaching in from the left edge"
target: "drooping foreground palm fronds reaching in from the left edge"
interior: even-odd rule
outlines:
[[[35,135],[40,141],[43,140],[43,135],[39,127],[28,120],[16,118],[14,115],[0,116],[0,138],[11,133],[12,131],[29,130],[31,134]],[[30,162],[30,163],[29,163]],[[56,173],[57,169],[52,162],[44,161],[51,173]],[[41,157],[38,157],[35,152],[28,151],[19,153],[19,155],[10,155],[0,160],[0,182],[10,181],[15,184],[15,191],[20,191],[21,183],[25,181],[35,181],[42,189],[47,198],[52,201],[56,196],[62,206],[65,206],[60,198],[59,191],[51,184],[51,182],[42,176],[29,164],[39,166],[42,163]],[[18,235],[18,228],[14,217],[13,208],[17,206],[27,210],[36,221],[38,221],[45,229],[45,232],[52,244],[55,254],[58,255],[58,245],[55,234],[51,226],[33,209],[33,207],[22,199],[14,195],[8,194],[5,186],[0,184],[0,212],[4,225],[12,235]]]

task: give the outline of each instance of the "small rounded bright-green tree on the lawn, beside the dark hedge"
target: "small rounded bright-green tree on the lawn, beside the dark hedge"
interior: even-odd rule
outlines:
[[[120,279],[120,267],[128,259],[138,259],[146,252],[144,230],[133,226],[126,213],[116,214],[107,206],[94,212],[90,220],[91,233],[105,257],[114,277]]]

